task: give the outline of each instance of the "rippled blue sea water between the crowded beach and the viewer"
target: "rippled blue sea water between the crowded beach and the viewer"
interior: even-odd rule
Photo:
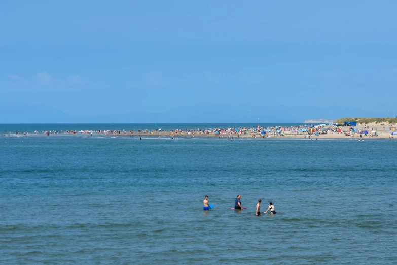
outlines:
[[[1,136],[0,263],[395,264],[396,150]],[[246,210],[230,209],[237,194]],[[215,207],[204,212],[205,195]],[[259,198],[277,214],[255,216]]]

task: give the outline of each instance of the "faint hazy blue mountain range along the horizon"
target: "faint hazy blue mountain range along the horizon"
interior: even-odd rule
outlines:
[[[70,115],[50,104],[29,104],[0,101],[0,123],[331,123],[333,120],[318,117],[379,117],[376,110],[361,110],[354,107],[335,108],[328,106],[253,106],[228,103],[201,103],[171,107],[152,108],[153,111],[130,111],[119,114],[100,115],[82,109],[81,115]]]

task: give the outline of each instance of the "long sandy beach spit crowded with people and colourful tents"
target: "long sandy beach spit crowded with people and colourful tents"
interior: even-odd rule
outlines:
[[[51,125],[49,125],[51,126]],[[128,126],[128,125],[127,125]],[[185,129],[114,129],[114,130],[46,130],[32,132],[8,131],[9,135],[16,136],[151,136],[151,137],[209,137],[219,139],[393,139],[391,131],[395,130],[395,124],[369,123],[357,124],[357,126],[338,126],[335,124],[321,125],[298,125],[298,126],[277,126],[277,127],[235,127],[235,128],[185,128]]]

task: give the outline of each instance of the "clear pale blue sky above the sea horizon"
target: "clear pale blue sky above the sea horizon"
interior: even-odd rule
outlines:
[[[3,2],[0,123],[393,116],[396,10],[395,1]]]

